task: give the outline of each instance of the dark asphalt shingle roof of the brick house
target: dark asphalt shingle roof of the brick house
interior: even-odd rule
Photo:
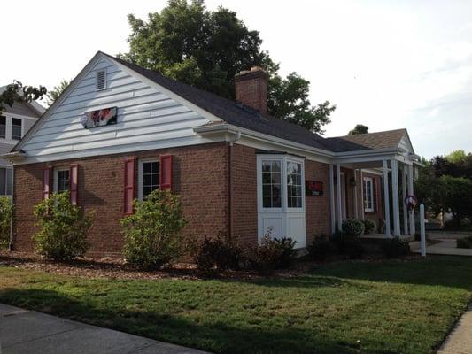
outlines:
[[[127,66],[129,69],[134,70],[136,73],[142,74],[144,77],[156,82],[164,88],[171,90],[176,95],[182,96],[182,98],[192,104],[196,104],[206,112],[210,112],[214,116],[223,119],[228,124],[250,129],[262,134],[272,135],[289,140],[290,142],[298,142],[313,148],[333,152],[394,148],[398,146],[401,137],[406,132],[406,129],[398,129],[366,135],[323,138],[304,127],[299,127],[296,124],[275,117],[261,116],[259,112],[243,104],[214,95],[203,89],[197,89],[180,81],[174,81],[160,73],[129,63],[126,60],[114,58],[105,53],[103,54]]]

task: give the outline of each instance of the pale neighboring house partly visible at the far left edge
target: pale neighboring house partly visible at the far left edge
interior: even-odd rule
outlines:
[[[0,87],[0,92],[5,88]],[[10,152],[43,112],[43,106],[36,102],[6,105],[0,113],[0,155]],[[3,158],[0,158],[0,196],[12,196],[12,164]]]

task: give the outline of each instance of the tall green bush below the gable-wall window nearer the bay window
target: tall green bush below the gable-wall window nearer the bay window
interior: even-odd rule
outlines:
[[[135,212],[121,219],[126,260],[145,269],[159,269],[179,258],[185,250],[181,235],[186,221],[178,196],[156,189],[140,202]]]

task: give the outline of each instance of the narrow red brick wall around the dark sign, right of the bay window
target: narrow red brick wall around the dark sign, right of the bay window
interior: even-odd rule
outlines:
[[[329,165],[305,160],[305,179],[323,182],[323,196],[305,196],[306,245],[315,235],[330,234]]]

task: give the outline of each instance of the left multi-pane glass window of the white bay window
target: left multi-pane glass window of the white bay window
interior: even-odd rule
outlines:
[[[262,161],[262,206],[264,208],[282,207],[282,161]]]

